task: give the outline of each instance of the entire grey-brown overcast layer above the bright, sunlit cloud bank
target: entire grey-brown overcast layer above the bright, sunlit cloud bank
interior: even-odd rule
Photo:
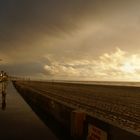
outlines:
[[[3,68],[19,74],[46,73],[44,65],[57,60],[69,71],[73,67],[66,62],[91,61],[116,46],[138,52],[139,4],[138,0],[0,0]]]

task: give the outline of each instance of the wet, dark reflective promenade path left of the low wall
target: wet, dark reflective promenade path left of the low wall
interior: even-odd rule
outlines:
[[[0,83],[0,90],[2,83]],[[57,140],[9,82],[0,92],[1,140]]]

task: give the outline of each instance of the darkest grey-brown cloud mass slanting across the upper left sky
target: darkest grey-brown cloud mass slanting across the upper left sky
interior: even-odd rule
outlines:
[[[0,42],[8,48],[20,47],[44,35],[73,32],[88,18],[109,14],[108,9],[114,9],[116,3],[120,5],[111,0],[1,0]]]

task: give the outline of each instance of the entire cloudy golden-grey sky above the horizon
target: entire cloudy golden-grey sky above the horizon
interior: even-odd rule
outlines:
[[[139,0],[0,0],[0,69],[56,80],[140,81]]]

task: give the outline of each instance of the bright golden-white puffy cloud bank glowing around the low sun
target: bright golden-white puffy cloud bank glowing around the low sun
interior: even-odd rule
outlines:
[[[51,61],[51,60],[50,60]],[[52,60],[44,69],[50,76],[75,80],[138,80],[140,79],[140,55],[129,54],[117,48],[98,59],[71,61]]]

